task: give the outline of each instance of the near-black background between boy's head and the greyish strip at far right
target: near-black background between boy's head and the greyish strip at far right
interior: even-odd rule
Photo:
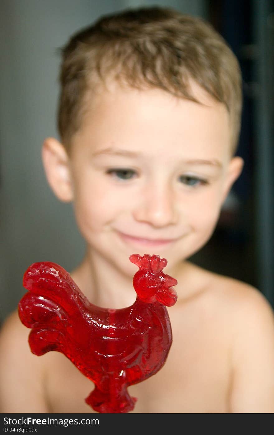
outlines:
[[[224,204],[216,230],[206,246],[191,260],[217,273],[225,274],[258,287],[256,245],[254,240],[254,96],[252,59],[248,47],[254,44],[250,1],[208,1],[208,20],[224,37],[240,62],[243,76],[243,112],[237,155],[244,169]],[[212,261],[214,258],[214,261]]]

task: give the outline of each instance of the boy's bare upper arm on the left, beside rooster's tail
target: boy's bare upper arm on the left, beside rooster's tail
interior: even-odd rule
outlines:
[[[1,412],[46,412],[44,368],[39,358],[30,351],[29,333],[30,329],[22,325],[17,311],[7,318],[1,328]]]

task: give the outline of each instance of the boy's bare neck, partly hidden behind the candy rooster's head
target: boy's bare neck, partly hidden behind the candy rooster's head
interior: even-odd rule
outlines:
[[[166,273],[178,279],[179,288],[182,288],[182,285],[184,288],[186,284],[186,289],[189,291],[188,272],[191,266],[188,261],[182,261],[172,271]],[[97,306],[124,308],[132,305],[136,299],[132,284],[133,275],[129,277],[127,274],[122,274],[95,251],[86,252],[82,263],[71,273],[71,276],[89,301]],[[179,288],[175,290],[180,292]],[[183,295],[178,294],[178,296]]]

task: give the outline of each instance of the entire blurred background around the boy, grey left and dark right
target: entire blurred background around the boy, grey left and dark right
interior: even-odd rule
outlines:
[[[211,240],[191,261],[254,285],[274,306],[274,1],[1,0],[0,321],[25,293],[22,278],[31,263],[54,261],[70,271],[84,253],[72,206],[54,197],[40,157],[43,139],[58,137],[57,49],[103,14],[152,5],[207,19],[240,61],[237,154],[244,171]]]

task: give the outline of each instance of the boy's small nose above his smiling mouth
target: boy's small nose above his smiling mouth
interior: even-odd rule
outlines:
[[[135,207],[136,221],[146,222],[154,227],[164,227],[178,222],[178,212],[174,192],[168,186],[147,187],[139,204]]]

